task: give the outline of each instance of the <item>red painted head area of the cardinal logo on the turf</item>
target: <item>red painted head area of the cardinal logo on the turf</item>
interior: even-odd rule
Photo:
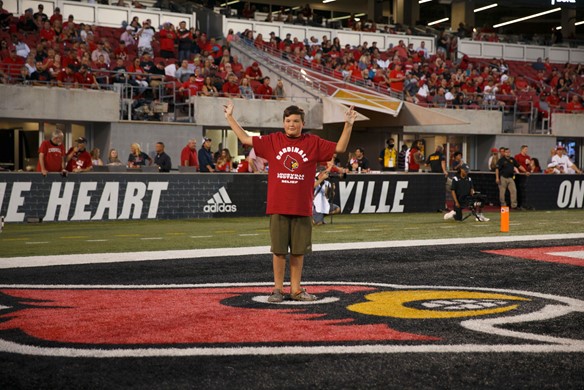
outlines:
[[[363,294],[362,286],[314,286],[316,294]],[[176,289],[2,289],[25,305],[0,316],[0,331],[19,329],[40,340],[93,345],[211,344],[373,340],[437,340],[335,319],[308,307],[236,307],[223,303],[265,287]],[[338,310],[338,309],[337,309]],[[338,313],[337,313],[338,314]]]

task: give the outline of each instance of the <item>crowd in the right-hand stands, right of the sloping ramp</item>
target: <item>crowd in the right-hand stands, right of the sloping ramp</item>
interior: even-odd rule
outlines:
[[[546,59],[544,68],[526,77],[525,67],[531,68],[528,63],[476,60],[466,55],[457,59],[455,40],[446,36],[439,38],[433,55],[424,41],[414,47],[400,40],[381,50],[376,42],[342,45],[338,38],[331,40],[326,35],[304,41],[290,34],[283,39],[275,33],[264,38],[246,31],[242,36],[248,44],[291,62],[423,105],[509,108],[519,102],[519,109],[530,111],[534,103],[544,111],[545,104],[540,107],[539,102],[547,101],[550,109],[581,110],[578,104],[568,104],[579,101],[577,95],[583,93],[583,64],[551,65]]]

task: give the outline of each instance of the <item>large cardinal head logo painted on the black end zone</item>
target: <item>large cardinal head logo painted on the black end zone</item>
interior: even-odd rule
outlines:
[[[584,301],[574,298],[473,287],[316,282],[310,291],[317,301],[274,304],[267,300],[267,288],[267,283],[0,285],[0,353],[584,352],[577,329],[533,326],[567,315],[582,318]]]

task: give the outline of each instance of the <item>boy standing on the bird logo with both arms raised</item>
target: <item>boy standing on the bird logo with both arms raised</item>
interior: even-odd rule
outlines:
[[[304,111],[297,106],[284,110],[284,132],[259,137],[247,135],[233,118],[233,102],[224,106],[225,118],[243,145],[253,146],[256,154],[268,160],[268,204],[274,290],[269,302],[284,300],[286,255],[290,252],[290,298],[314,301],[300,285],[304,255],[312,249],[312,198],[314,173],[319,161],[329,161],[343,153],[349,144],[357,113],[345,114],[345,127],[338,143],[302,134]]]

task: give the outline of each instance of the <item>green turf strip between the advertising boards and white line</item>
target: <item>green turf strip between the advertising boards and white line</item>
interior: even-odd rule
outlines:
[[[441,213],[337,215],[315,227],[313,243],[584,232],[584,210],[498,213],[490,222],[444,221]],[[269,245],[268,218],[6,224],[0,257]]]

